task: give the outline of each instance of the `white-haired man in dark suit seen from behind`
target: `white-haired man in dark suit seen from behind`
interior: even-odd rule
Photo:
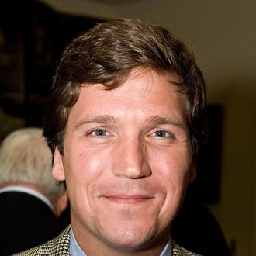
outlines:
[[[15,130],[0,147],[1,255],[43,244],[64,229],[64,188],[51,177],[51,154],[40,128]]]

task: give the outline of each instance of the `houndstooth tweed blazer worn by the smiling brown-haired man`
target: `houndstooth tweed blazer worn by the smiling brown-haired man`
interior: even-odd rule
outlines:
[[[70,230],[71,225],[68,226],[58,237],[50,240],[46,244],[34,247],[27,251],[20,252],[19,254],[14,254],[16,256],[69,256],[69,241],[70,241]],[[171,241],[172,256],[199,256],[199,254],[194,254],[190,251],[185,250],[180,247],[175,242]]]

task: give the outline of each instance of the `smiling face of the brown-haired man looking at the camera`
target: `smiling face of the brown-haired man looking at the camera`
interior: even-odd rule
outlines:
[[[187,101],[178,76],[136,71],[119,88],[85,85],[71,109],[64,156],[71,223],[81,247],[140,248],[167,242],[195,176]],[[164,237],[164,238],[163,238]]]

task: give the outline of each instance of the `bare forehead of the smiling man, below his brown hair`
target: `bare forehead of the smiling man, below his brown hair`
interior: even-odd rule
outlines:
[[[134,118],[150,115],[185,118],[187,99],[178,92],[178,85],[175,84],[179,82],[176,74],[136,70],[122,85],[112,90],[106,90],[102,84],[85,84],[69,117],[73,121],[82,116],[106,114],[120,117],[130,114]]]

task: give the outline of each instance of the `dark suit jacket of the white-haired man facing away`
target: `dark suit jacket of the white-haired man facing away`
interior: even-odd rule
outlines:
[[[64,229],[40,199],[23,192],[0,193],[0,254],[10,255],[43,244]]]

